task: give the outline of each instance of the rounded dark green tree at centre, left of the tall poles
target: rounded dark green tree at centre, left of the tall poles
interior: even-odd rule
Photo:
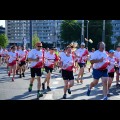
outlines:
[[[60,37],[64,43],[80,40],[81,23],[77,20],[64,20],[61,24]]]

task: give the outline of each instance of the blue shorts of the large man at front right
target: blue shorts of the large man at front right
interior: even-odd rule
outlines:
[[[107,69],[106,70],[97,70],[93,68],[93,78],[99,80],[101,77],[108,77]]]

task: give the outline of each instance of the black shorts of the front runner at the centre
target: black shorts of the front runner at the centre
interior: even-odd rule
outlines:
[[[63,80],[74,80],[73,71],[66,71],[62,69]]]

